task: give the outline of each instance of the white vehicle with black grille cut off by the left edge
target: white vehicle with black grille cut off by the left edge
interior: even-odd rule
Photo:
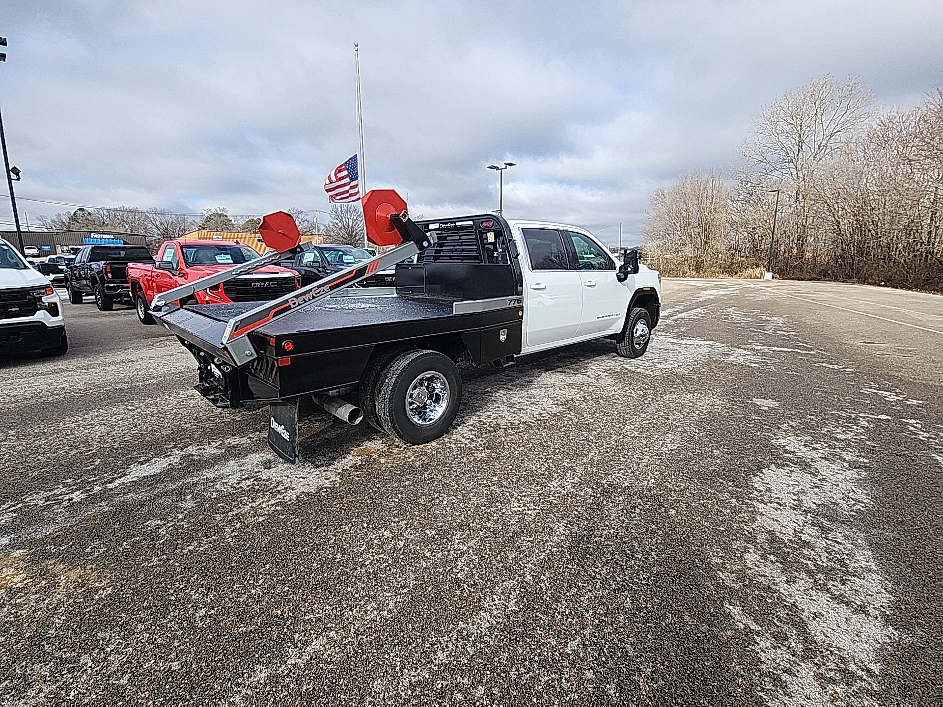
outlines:
[[[0,238],[0,353],[60,356],[68,349],[56,288]]]

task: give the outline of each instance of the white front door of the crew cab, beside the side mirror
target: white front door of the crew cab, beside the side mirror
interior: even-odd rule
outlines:
[[[577,337],[621,328],[628,306],[628,288],[616,278],[616,261],[586,234],[565,231],[583,285],[583,315]]]

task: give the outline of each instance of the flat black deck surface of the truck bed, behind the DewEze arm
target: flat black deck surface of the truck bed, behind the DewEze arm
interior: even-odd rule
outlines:
[[[186,309],[215,321],[228,321],[261,303],[190,304]],[[259,334],[284,337],[308,332],[453,316],[452,300],[411,297],[329,297],[261,327]]]

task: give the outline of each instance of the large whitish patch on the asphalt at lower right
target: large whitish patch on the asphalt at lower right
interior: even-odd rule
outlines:
[[[878,656],[897,636],[887,624],[892,597],[854,522],[870,502],[859,433],[823,432],[781,428],[774,463],[753,478],[751,539],[736,547],[738,567],[720,571],[755,599],[727,609],[753,635],[772,705],[832,704],[835,695],[875,704]]]

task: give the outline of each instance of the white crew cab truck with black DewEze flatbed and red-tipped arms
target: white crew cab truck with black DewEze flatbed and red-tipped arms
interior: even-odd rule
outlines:
[[[395,192],[376,193],[364,199],[368,238],[397,245],[391,251],[271,302],[174,304],[303,252],[285,238],[297,232],[294,222],[276,212],[259,229],[269,254],[151,304],[155,320],[196,359],[196,389],[208,400],[269,403],[269,442],[283,458],[297,458],[299,403],[313,400],[340,419],[366,418],[422,444],[455,420],[460,362],[505,367],[521,355],[601,337],[629,358],[648,348],[661,277],[638,263],[636,251],[618,263],[592,234],[563,223],[490,214],[413,222],[389,196]],[[393,265],[395,288],[350,287]]]

